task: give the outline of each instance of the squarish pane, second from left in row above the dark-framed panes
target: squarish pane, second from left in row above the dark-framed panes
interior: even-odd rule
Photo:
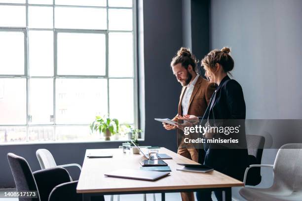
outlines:
[[[28,26],[30,28],[53,28],[53,9],[49,6],[29,6]]]

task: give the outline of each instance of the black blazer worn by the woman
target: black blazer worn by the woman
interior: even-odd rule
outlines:
[[[244,125],[245,111],[240,84],[228,76],[224,77],[214,92],[200,124],[204,126],[206,122],[209,122],[211,126],[226,127],[238,126],[240,123],[238,134],[219,135],[221,138],[238,139],[240,145],[238,148],[230,148],[217,143],[205,144],[205,156],[202,158],[200,154],[199,163],[203,162],[215,170],[243,180],[244,171],[249,164]]]

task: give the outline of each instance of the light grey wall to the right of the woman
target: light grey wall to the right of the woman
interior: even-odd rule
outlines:
[[[210,13],[210,47],[232,48],[247,118],[302,119],[302,0],[211,0]],[[262,163],[276,152],[264,150]],[[269,186],[271,170],[262,174]]]

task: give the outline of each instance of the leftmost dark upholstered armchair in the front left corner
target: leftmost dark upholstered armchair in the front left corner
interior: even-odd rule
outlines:
[[[76,193],[77,181],[70,180],[69,173],[62,167],[32,172],[27,161],[13,153],[7,154],[17,191],[36,191],[37,198],[19,198],[19,201],[81,201],[82,194]],[[62,191],[63,190],[63,191]],[[102,197],[104,201],[104,197]]]

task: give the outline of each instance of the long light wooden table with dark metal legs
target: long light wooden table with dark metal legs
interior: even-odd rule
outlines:
[[[113,153],[113,158],[87,158],[87,154],[93,152]],[[225,200],[231,201],[231,187],[243,186],[243,182],[229,177],[218,171],[207,173],[185,172],[176,170],[177,163],[197,164],[183,156],[180,156],[166,148],[160,148],[158,153],[165,153],[173,159],[164,160],[171,168],[169,176],[157,181],[144,181],[107,177],[104,174],[116,169],[139,169],[139,161],[146,159],[143,155],[123,153],[122,149],[87,149],[82,171],[76,187],[77,193],[83,194],[83,200],[90,200],[91,196],[116,195],[116,194],[144,194],[170,192],[192,192],[202,189],[217,188],[225,191]]]

